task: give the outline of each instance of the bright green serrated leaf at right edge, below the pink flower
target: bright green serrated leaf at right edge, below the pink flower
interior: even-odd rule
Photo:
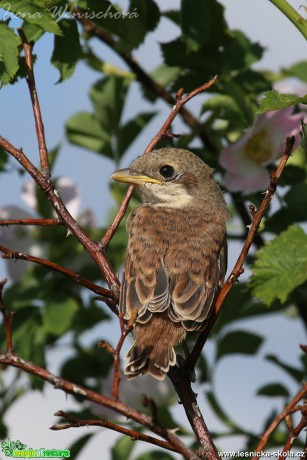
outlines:
[[[307,280],[307,235],[289,227],[256,253],[252,266],[252,293],[267,305],[288,295]]]

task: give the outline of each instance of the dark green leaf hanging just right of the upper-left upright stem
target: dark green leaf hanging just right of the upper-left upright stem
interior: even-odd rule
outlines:
[[[77,61],[82,55],[82,48],[76,21],[62,19],[58,25],[62,35],[54,37],[51,62],[60,72],[58,83],[61,83],[74,73]]]

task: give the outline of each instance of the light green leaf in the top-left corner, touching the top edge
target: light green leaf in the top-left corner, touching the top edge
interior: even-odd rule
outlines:
[[[14,16],[39,26],[45,32],[51,32],[56,35],[61,35],[62,33],[48,8],[39,6],[33,1],[0,0],[0,8],[9,10],[9,13],[13,13]]]

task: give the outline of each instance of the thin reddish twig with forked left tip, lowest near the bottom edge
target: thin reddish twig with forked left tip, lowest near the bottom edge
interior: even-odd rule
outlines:
[[[128,428],[124,428],[120,425],[116,425],[115,423],[110,422],[109,420],[104,419],[99,419],[99,420],[81,420],[78,419],[77,417],[73,417],[70,414],[67,414],[67,412],[64,412],[62,410],[56,412],[54,415],[57,417],[62,417],[65,418],[69,421],[69,423],[66,424],[56,424],[53,425],[50,429],[54,431],[58,430],[66,430],[68,428],[79,428],[81,426],[101,426],[103,428],[108,428],[109,430],[116,431],[118,433],[122,433],[126,436],[129,436],[131,438],[131,441],[145,441],[149,444],[153,444],[157,447],[161,447],[162,449],[167,449],[172,452],[178,452],[178,450],[174,449],[174,447],[166,441],[162,441],[161,439],[153,438],[152,436],[149,436],[147,434],[139,433],[134,430],[130,430]]]

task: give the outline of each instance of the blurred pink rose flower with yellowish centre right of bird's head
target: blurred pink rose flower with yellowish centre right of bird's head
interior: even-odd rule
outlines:
[[[224,148],[219,162],[225,169],[224,183],[230,192],[267,189],[270,179],[266,166],[281,156],[288,136],[298,141],[302,115],[292,115],[292,110],[288,107],[259,115],[238,142]]]

